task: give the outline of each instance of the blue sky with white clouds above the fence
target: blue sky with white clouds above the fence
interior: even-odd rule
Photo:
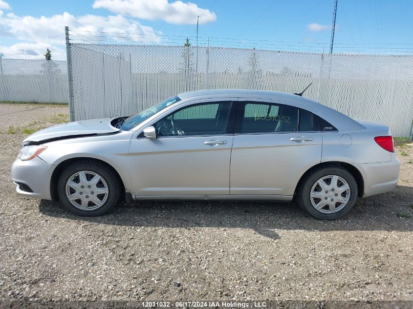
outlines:
[[[216,46],[295,51],[322,50],[324,46],[326,51],[333,3],[334,0],[0,0],[0,52],[7,58],[42,58],[49,47],[54,59],[65,59],[66,24],[82,31],[145,34],[125,36],[121,40],[126,42],[183,44],[181,36],[188,36],[195,43],[197,15],[201,44],[210,37],[210,45]],[[410,0],[339,0],[335,51],[413,51],[412,11]],[[90,37],[97,35],[91,32],[73,35],[74,40],[119,40],[109,34]]]

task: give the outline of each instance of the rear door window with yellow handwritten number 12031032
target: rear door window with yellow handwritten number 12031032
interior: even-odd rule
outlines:
[[[299,108],[284,104],[245,102],[239,104],[240,133],[293,132],[298,130]]]

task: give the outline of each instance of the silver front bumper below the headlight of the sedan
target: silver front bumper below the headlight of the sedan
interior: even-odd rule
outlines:
[[[17,193],[31,198],[51,200],[52,166],[39,157],[28,161],[16,159],[11,167],[11,178],[16,184]]]

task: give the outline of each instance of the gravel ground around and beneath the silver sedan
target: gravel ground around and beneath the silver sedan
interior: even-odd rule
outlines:
[[[412,145],[396,150],[393,192],[332,222],[257,202],[140,202],[82,218],[17,195],[10,180],[22,128],[54,124],[68,108],[0,104],[0,114],[0,300],[413,304]]]

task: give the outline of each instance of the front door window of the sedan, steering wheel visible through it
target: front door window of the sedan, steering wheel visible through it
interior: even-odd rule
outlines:
[[[217,135],[227,133],[231,102],[185,106],[156,122],[157,136]]]

